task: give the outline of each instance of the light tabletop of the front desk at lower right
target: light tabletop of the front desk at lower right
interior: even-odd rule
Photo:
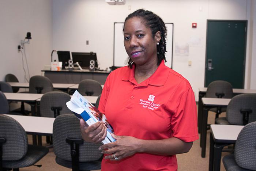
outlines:
[[[237,136],[244,128],[241,125],[211,125],[211,133],[215,142],[234,143]]]

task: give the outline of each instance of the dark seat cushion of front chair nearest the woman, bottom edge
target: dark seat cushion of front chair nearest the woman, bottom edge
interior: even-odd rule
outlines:
[[[58,163],[61,166],[72,168],[72,162],[68,160],[60,159],[59,157],[56,157],[56,163]],[[99,170],[101,169],[101,159],[97,161],[88,161],[88,162],[80,162],[79,163],[79,169],[80,170]]]

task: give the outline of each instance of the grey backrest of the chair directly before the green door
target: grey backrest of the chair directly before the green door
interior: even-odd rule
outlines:
[[[230,99],[233,97],[233,87],[227,81],[222,81],[222,80],[212,81],[207,87],[205,97],[218,98],[216,94],[224,94],[222,98]]]

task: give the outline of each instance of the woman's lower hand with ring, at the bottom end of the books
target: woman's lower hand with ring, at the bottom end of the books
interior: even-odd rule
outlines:
[[[131,136],[116,136],[112,134],[112,137],[117,141],[99,147],[104,154],[110,154],[105,156],[105,159],[121,160],[125,157],[132,156],[139,152],[140,140]]]

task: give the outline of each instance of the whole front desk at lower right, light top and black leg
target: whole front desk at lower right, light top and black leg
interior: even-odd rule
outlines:
[[[209,171],[219,171],[221,167],[221,152],[223,147],[234,144],[244,126],[211,125]]]

